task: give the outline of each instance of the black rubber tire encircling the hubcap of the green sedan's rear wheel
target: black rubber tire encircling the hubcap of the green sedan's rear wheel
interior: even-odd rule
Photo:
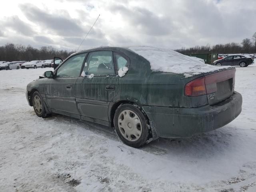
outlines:
[[[138,140],[136,140],[136,141],[130,141],[130,140],[126,139],[120,131],[120,129],[122,129],[122,128],[119,129],[119,126],[118,126],[118,118],[120,116],[122,116],[122,112],[124,112],[126,110],[132,111],[132,113],[136,114],[141,123],[141,126],[139,126],[139,128],[141,130],[141,135],[138,138]],[[125,124],[126,124],[126,122],[125,122]],[[131,146],[134,148],[139,148],[139,147],[143,146],[144,144],[146,144],[146,141],[149,139],[149,132],[150,132],[149,127],[150,126],[148,123],[148,118],[146,117],[146,114],[144,114],[138,106],[134,106],[132,104],[121,104],[116,109],[116,112],[114,115],[114,127],[116,130],[116,134],[118,135],[120,140],[122,140],[122,142],[124,142],[124,144],[126,144],[128,146]],[[134,127],[132,127],[132,129],[134,129]],[[123,132],[123,134],[124,134],[124,132]]]

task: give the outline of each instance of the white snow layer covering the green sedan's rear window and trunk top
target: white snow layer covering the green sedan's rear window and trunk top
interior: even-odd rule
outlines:
[[[168,48],[156,48],[152,46],[127,46],[126,48],[148,60],[152,71],[183,74],[186,78],[202,73],[232,68],[231,66],[203,64],[198,58],[186,56]]]

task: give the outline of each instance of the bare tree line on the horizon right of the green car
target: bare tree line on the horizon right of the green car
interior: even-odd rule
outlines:
[[[194,46],[191,48],[181,48],[175,50],[182,54],[197,54],[197,53],[218,53],[218,54],[236,54],[236,53],[256,53],[256,33],[252,36],[252,40],[249,38],[243,39],[242,42],[236,43],[226,43],[226,44],[216,44],[210,46]]]

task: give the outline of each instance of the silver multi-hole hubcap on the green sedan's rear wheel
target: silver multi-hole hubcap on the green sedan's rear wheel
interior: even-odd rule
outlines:
[[[137,141],[142,133],[140,118],[131,110],[124,110],[119,114],[118,128],[128,141]]]

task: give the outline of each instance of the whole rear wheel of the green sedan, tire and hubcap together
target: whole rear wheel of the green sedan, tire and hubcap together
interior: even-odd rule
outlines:
[[[120,140],[131,147],[141,147],[149,139],[146,115],[132,104],[121,104],[114,115],[114,126]]]

